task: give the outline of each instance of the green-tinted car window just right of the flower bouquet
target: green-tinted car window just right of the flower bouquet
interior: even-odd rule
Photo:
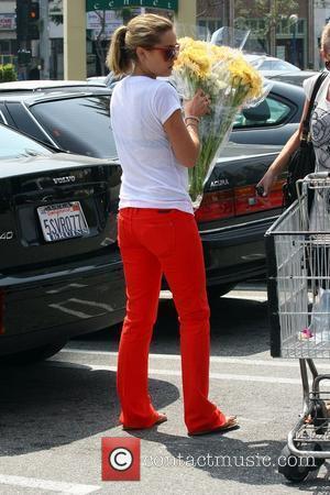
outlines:
[[[267,97],[256,107],[246,108],[239,112],[233,128],[278,125],[285,121],[290,111],[290,107],[285,102]]]

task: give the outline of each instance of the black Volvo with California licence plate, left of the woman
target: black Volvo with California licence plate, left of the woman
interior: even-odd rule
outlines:
[[[0,124],[0,363],[50,356],[122,320],[120,175],[109,160],[58,153]]]

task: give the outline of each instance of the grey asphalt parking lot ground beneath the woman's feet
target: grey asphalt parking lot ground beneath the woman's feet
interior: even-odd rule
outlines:
[[[328,462],[300,484],[276,471],[302,395],[297,361],[270,356],[265,286],[242,285],[212,306],[210,398],[241,428],[200,438],[183,421],[176,314],[163,296],[150,392],[168,421],[148,431],[118,426],[119,327],[72,340],[43,364],[2,367],[0,493],[330,493]],[[101,439],[117,437],[141,440],[140,481],[101,481]]]

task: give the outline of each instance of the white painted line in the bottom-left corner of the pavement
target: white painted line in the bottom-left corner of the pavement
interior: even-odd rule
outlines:
[[[24,488],[48,490],[63,494],[87,495],[101,490],[96,485],[80,485],[76,483],[55,482],[50,480],[38,480],[36,477],[13,476],[0,474],[1,485],[21,486]]]

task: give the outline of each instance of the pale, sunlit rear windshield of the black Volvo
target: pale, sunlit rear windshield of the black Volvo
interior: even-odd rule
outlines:
[[[0,160],[40,155],[48,156],[52,152],[30,138],[0,125]]]

